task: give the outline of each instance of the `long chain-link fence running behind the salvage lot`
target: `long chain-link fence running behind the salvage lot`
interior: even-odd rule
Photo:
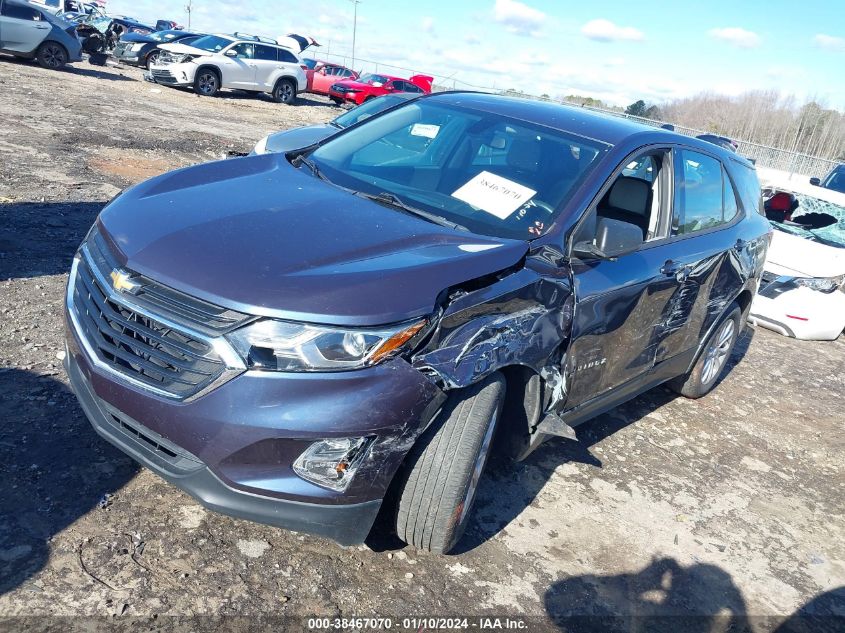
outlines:
[[[351,56],[344,54],[335,54],[332,53],[331,50],[326,52],[320,51],[318,56],[320,57],[320,59],[332,61],[336,64],[342,64],[343,66],[351,67],[353,65],[353,60]],[[534,101],[552,101],[555,103],[565,103],[558,99],[538,97],[536,95],[530,95],[523,92],[515,92],[513,90],[502,90],[501,88],[491,88],[489,86],[477,86],[474,84],[467,83],[465,81],[461,81],[460,79],[457,79],[454,75],[448,77],[445,75],[433,75],[432,73],[429,73],[425,70],[405,68],[402,66],[393,66],[391,64],[384,64],[369,59],[356,58],[354,60],[354,66],[354,70],[357,71],[384,73],[388,75],[395,74],[404,77],[420,74],[428,75],[434,77],[435,92],[443,90],[479,90],[481,92],[507,94],[514,97],[532,99]],[[576,104],[570,103],[569,105],[573,107],[578,107]],[[607,114],[610,116],[630,119],[632,121],[637,121],[639,123],[643,123],[645,125],[650,125],[653,127],[660,127],[662,125],[671,124],[674,127],[675,132],[678,132],[679,134],[684,134],[686,136],[712,134],[712,132],[709,132],[707,130],[697,130],[695,128],[685,127],[683,125],[676,125],[669,121],[656,121],[654,119],[632,116],[630,114],[625,114],[624,112],[619,112],[616,110],[606,110],[604,108],[596,108],[593,106],[580,107],[592,110],[594,112]],[[743,141],[740,139],[733,140],[735,140],[738,144],[737,151],[739,154],[752,159],[757,165],[760,165],[761,167],[770,167],[772,169],[780,169],[791,174],[801,174],[804,176],[811,177],[817,176],[819,178],[822,178],[825,176],[825,174],[830,172],[830,170],[837,165],[836,161],[828,160],[826,158],[820,158],[818,156],[810,156],[809,154],[792,152],[789,150],[780,149],[778,147],[769,147],[768,145],[760,145],[758,143],[752,143],[750,141]]]

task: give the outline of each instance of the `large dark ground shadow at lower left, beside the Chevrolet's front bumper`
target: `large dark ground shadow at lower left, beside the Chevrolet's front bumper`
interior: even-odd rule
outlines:
[[[100,439],[62,383],[0,370],[0,594],[37,574],[52,538],[138,470]]]

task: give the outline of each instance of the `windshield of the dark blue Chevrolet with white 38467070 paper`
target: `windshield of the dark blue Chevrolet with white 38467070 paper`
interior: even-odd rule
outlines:
[[[500,114],[412,101],[328,141],[310,158],[342,187],[484,235],[545,233],[607,145]]]

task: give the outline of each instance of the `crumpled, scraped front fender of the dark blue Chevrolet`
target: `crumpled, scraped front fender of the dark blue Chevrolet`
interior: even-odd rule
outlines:
[[[527,424],[517,457],[526,457],[549,435],[575,439],[558,416],[566,401],[565,350],[574,296],[569,269],[557,261],[556,251],[540,247],[521,268],[481,288],[457,289],[444,303],[412,365],[446,391],[495,371],[524,368]]]

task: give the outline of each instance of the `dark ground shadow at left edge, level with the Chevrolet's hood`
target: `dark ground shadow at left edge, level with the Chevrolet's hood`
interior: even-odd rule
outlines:
[[[0,280],[61,275],[102,202],[0,204]]]

